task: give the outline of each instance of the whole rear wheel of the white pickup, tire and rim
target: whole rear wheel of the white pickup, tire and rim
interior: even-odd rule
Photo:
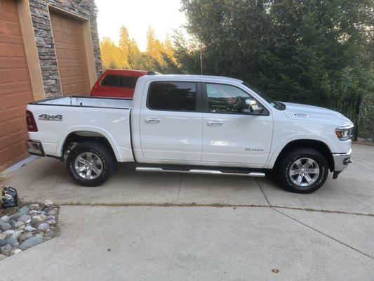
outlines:
[[[67,157],[67,171],[76,183],[98,186],[114,168],[112,153],[102,143],[87,141],[76,145]]]

